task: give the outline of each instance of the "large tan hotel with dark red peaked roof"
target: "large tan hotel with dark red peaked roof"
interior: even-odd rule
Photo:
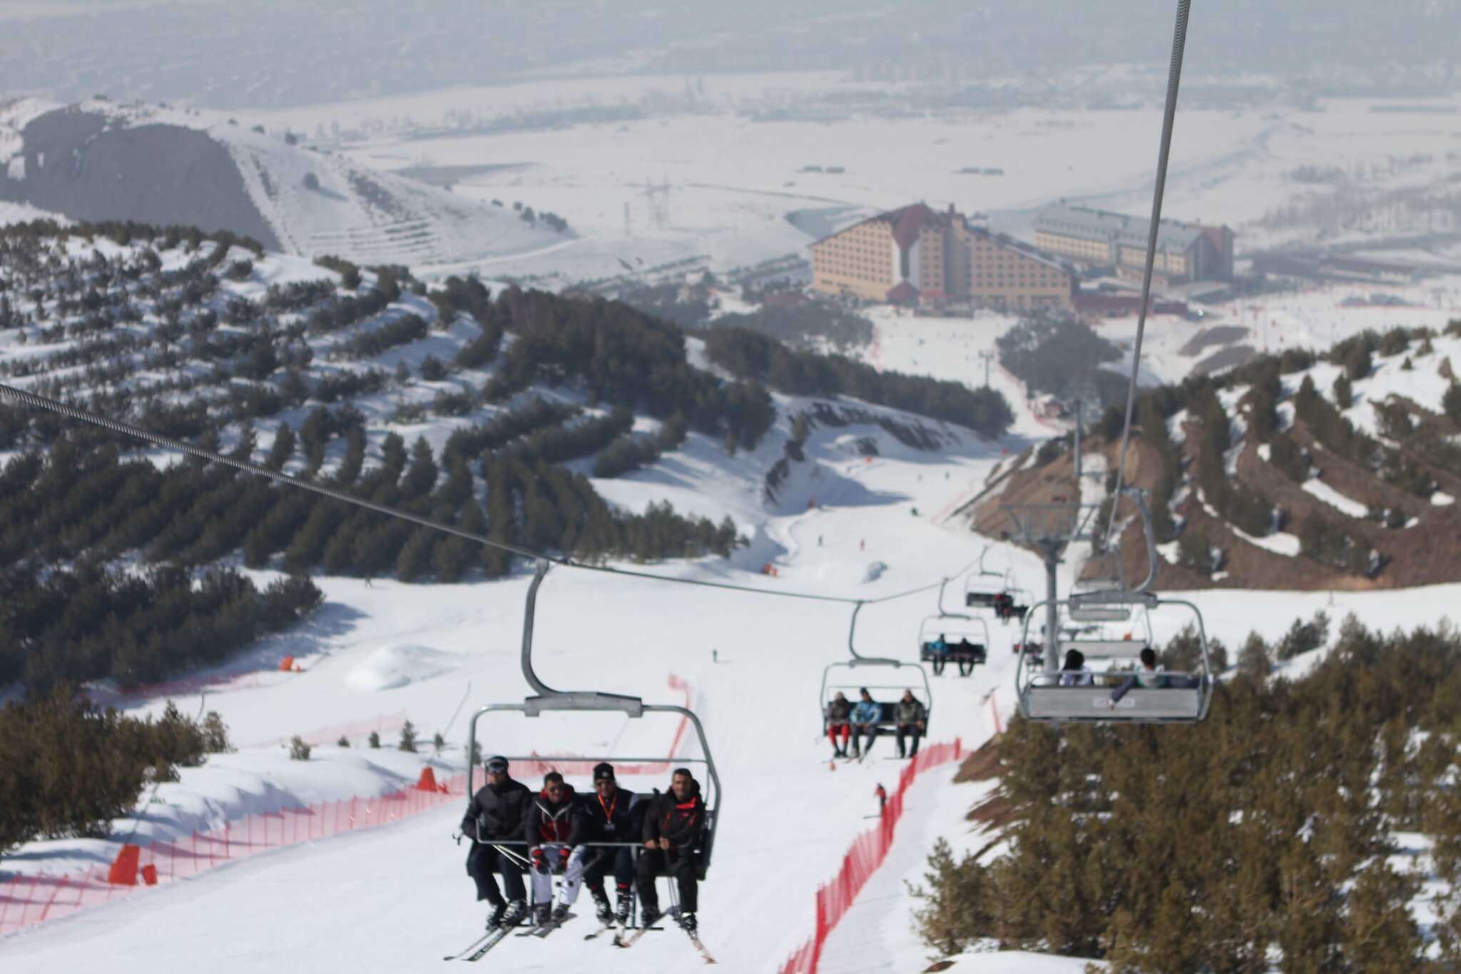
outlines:
[[[1069,308],[1074,275],[948,207],[880,213],[812,244],[812,288],[863,301]]]

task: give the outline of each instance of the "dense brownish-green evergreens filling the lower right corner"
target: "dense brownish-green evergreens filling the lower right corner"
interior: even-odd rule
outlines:
[[[915,888],[925,943],[1118,974],[1455,970],[1461,635],[1350,616],[1308,676],[1271,678],[1316,624],[1292,645],[1251,635],[1199,724],[1014,720],[970,813],[998,838],[960,859],[941,843]],[[1433,926],[1427,851],[1446,883]]]

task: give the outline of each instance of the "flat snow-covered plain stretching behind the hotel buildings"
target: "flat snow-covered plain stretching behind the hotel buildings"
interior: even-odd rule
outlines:
[[[557,79],[248,118],[304,133],[339,124],[351,139],[324,137],[323,145],[354,161],[377,169],[457,166],[453,191],[460,196],[520,200],[562,213],[579,241],[554,253],[494,260],[484,272],[564,282],[618,275],[621,260],[643,269],[700,256],[725,269],[786,253],[805,256],[812,235],[792,225],[792,213],[836,222],[922,199],[991,215],[996,229],[1024,234],[1036,207],[1062,197],[1132,213],[1150,204],[1159,104],[891,117],[836,108],[837,99],[866,95],[869,85],[833,72],[706,76],[697,85],[700,92],[687,99],[678,85],[657,76]],[[906,91],[872,88],[890,96]],[[644,117],[470,130],[473,118],[630,105]],[[806,105],[824,111],[796,118]],[[1239,231],[1239,250],[1254,250],[1313,237],[1315,228],[1264,221],[1334,188],[1297,181],[1293,174],[1303,166],[1335,166],[1346,190],[1360,194],[1443,185],[1457,155],[1449,115],[1375,111],[1375,105],[1331,99],[1316,111],[1286,104],[1185,108],[1164,212],[1227,223]],[[1151,155],[1131,146],[1150,146]],[[960,172],[967,168],[1002,172]],[[662,183],[669,185],[665,221],[646,193],[647,184]],[[1350,235],[1455,229],[1427,223],[1419,212],[1416,219],[1411,228],[1381,215]]]

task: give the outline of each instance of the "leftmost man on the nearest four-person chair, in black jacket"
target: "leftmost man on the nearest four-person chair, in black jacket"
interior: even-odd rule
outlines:
[[[517,862],[497,847],[495,841],[517,841],[523,835],[523,819],[532,803],[532,791],[507,774],[507,758],[488,758],[487,784],[472,796],[466,815],[462,818],[462,834],[472,840],[466,854],[466,872],[476,882],[476,898],[492,904],[487,919],[488,927],[514,926],[527,916],[527,892],[523,889],[523,870]],[[497,891],[492,872],[503,873],[503,889],[511,902],[504,902]]]

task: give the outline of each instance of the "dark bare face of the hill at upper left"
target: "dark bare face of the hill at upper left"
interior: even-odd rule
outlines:
[[[194,129],[120,127],[61,108],[23,130],[25,178],[0,172],[0,200],[75,221],[137,221],[232,231],[279,250],[228,150]]]

